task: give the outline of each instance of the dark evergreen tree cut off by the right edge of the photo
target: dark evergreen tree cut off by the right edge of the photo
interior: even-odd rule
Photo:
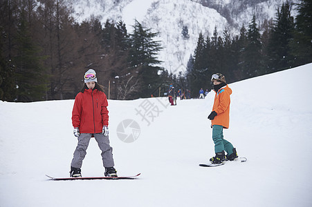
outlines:
[[[302,0],[295,18],[294,39],[291,41],[291,54],[295,66],[312,61],[312,1]]]

